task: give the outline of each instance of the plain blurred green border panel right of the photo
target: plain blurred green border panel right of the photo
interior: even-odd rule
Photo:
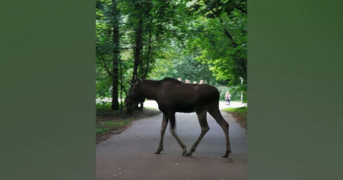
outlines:
[[[342,179],[342,1],[248,1],[248,179]]]

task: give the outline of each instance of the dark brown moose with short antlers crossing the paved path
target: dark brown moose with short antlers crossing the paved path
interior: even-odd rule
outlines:
[[[226,151],[222,157],[228,157],[231,152],[229,141],[229,124],[225,121],[219,110],[219,92],[217,88],[209,84],[186,84],[176,79],[166,77],[160,81],[141,79],[134,76],[135,83],[131,83],[131,91],[125,98],[124,104],[129,108],[133,102],[142,103],[145,98],[153,99],[158,104],[158,109],[163,113],[161,138],[155,154],[163,151],[163,136],[170,122],[170,132],[182,148],[182,156],[191,156],[200,143],[203,136],[210,130],[206,120],[206,113],[216,120],[225,133]],[[176,112],[196,112],[201,133],[197,141],[187,153],[185,144],[175,132]],[[187,154],[186,154],[187,153]]]

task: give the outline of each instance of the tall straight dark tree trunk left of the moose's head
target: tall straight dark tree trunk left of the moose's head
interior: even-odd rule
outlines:
[[[118,61],[119,61],[119,21],[117,16],[117,1],[112,0],[113,9],[112,9],[112,16],[114,17],[113,20],[113,91],[112,91],[112,110],[118,110]]]

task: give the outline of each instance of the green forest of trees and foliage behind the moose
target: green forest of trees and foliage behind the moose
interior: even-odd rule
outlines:
[[[135,75],[203,80],[247,102],[246,0],[96,0],[95,25],[96,98],[118,99],[111,110]]]

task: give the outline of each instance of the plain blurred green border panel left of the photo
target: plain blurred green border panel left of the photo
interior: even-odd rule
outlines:
[[[1,1],[0,179],[95,179],[95,1]]]

